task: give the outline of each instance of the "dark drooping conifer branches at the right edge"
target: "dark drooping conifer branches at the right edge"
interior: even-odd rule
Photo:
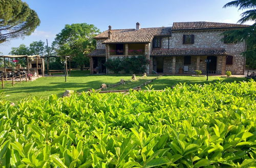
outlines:
[[[254,21],[249,27],[239,30],[232,30],[223,33],[226,35],[223,40],[229,42],[242,42],[247,44],[247,50],[243,52],[246,56],[246,65],[250,68],[256,68],[256,1],[255,0],[236,0],[224,5],[223,8],[238,7],[239,10],[249,9],[241,14],[241,19],[238,23],[245,23],[246,21]]]

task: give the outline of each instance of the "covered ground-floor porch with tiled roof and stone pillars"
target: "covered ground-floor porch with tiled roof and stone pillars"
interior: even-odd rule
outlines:
[[[225,74],[226,51],[222,48],[154,49],[151,54],[151,73],[195,74],[201,70],[206,74],[206,59],[210,59],[208,73]]]

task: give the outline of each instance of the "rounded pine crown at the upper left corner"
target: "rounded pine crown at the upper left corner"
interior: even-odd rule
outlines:
[[[40,24],[36,12],[21,0],[0,1],[0,43],[28,36]]]

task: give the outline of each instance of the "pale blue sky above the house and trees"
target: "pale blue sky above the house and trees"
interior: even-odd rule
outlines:
[[[214,21],[236,23],[241,11],[222,7],[231,0],[23,0],[41,20],[35,32],[25,38],[0,44],[0,52],[8,54],[11,47],[29,45],[46,39],[51,44],[65,24],[94,24],[100,31],[108,29],[172,26],[179,21]],[[248,22],[247,24],[252,24]]]

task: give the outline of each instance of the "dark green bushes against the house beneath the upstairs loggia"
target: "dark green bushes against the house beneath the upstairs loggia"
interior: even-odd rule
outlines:
[[[104,65],[114,73],[123,71],[124,73],[138,74],[146,72],[146,64],[148,64],[146,57],[140,55],[138,57],[117,57],[114,59],[108,59]]]

